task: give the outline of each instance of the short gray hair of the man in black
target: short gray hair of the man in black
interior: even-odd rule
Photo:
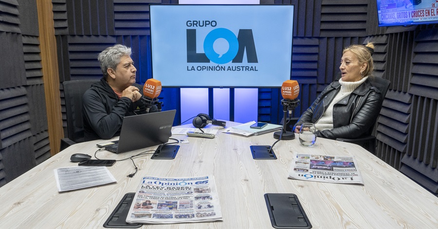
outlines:
[[[116,44],[114,46],[106,48],[104,51],[99,53],[97,60],[100,62],[100,69],[105,78],[107,78],[107,70],[109,68],[116,69],[117,65],[120,63],[120,58],[122,56],[131,56],[131,48],[126,47],[122,44]]]

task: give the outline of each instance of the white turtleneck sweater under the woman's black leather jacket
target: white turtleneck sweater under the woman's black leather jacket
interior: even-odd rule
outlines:
[[[350,95],[354,91],[354,89],[356,89],[357,87],[359,87],[359,85],[365,82],[367,78],[368,76],[365,76],[363,79],[356,82],[344,82],[342,81],[342,79],[339,79],[339,83],[341,84],[341,90],[333,98],[321,118],[315,123],[316,130],[323,131],[333,129],[333,105],[339,102],[341,99]]]

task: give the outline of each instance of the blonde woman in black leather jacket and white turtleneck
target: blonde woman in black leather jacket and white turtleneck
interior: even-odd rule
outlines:
[[[314,123],[316,136],[329,139],[357,138],[367,135],[376,122],[383,96],[374,87],[374,45],[351,45],[341,58],[341,78],[333,81],[301,115],[294,127],[299,133],[302,123]]]

